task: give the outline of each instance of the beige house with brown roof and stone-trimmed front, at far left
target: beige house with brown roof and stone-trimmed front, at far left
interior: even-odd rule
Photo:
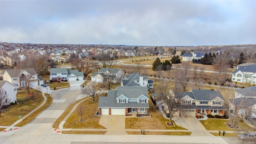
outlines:
[[[7,80],[18,88],[28,86],[28,84],[29,86],[44,84],[44,80],[38,78],[38,74],[33,68],[6,70],[3,80]]]

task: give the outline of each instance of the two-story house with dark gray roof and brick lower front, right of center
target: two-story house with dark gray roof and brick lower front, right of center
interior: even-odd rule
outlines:
[[[175,98],[181,104],[189,104],[186,114],[190,116],[198,115],[220,115],[223,116],[226,108],[224,107],[224,97],[218,90],[190,90],[189,92],[177,92]],[[174,115],[182,116],[182,112]]]

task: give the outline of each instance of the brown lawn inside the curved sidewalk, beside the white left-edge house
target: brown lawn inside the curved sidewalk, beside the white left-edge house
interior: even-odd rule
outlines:
[[[22,94],[17,94],[17,100],[30,98],[30,96],[27,95],[26,90],[19,90],[18,92]],[[32,92],[36,95],[36,90],[30,89],[30,93]],[[14,122],[20,119],[18,116],[25,116],[42,104],[43,100],[42,92],[40,92],[38,98],[34,98],[34,100],[28,100],[24,104],[10,106],[1,114],[0,126],[11,126]]]

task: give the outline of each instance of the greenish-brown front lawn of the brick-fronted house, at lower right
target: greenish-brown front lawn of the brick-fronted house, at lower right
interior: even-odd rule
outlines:
[[[221,119],[207,119],[207,120],[199,120],[202,125],[206,128],[206,130],[219,130],[219,131],[240,131],[242,129],[236,129],[236,128],[229,128],[226,124],[224,123],[230,123],[229,120],[221,120]],[[241,125],[240,125],[241,124]],[[252,128],[248,126],[245,122],[241,122],[240,119],[240,124],[238,126],[241,128],[244,128],[248,131],[256,131],[255,128]]]

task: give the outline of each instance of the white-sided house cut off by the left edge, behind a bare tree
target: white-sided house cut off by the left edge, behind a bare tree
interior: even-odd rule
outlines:
[[[4,105],[8,105],[11,102],[16,103],[17,86],[6,81],[0,80],[0,88],[5,91],[8,99],[4,100]]]

